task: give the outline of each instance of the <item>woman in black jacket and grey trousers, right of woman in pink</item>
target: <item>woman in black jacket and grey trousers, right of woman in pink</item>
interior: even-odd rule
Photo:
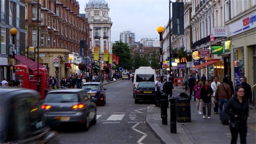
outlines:
[[[203,118],[206,115],[206,106],[207,106],[207,116],[211,118],[211,97],[213,94],[212,88],[209,86],[209,81],[204,81],[204,86],[200,91],[200,101],[202,102]]]

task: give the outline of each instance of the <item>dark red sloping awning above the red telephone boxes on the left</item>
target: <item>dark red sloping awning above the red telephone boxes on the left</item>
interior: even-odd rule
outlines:
[[[37,69],[37,62],[30,60],[29,58],[26,58],[24,56],[17,56],[17,55],[15,55],[15,58],[20,62],[20,64],[27,65],[29,69],[31,69],[32,71]],[[45,67],[39,64],[39,68],[45,68]]]

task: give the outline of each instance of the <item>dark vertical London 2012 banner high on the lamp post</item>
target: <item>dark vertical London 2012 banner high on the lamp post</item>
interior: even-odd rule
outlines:
[[[184,35],[184,3],[172,3],[173,35]]]

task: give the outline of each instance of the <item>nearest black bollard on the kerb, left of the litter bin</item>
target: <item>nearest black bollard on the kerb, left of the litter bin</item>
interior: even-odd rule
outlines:
[[[176,104],[174,96],[170,97],[170,129],[171,133],[177,133],[176,122]]]

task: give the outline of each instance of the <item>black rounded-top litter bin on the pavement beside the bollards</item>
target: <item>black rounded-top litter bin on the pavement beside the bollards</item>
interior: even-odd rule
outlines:
[[[191,122],[190,98],[182,92],[176,96],[177,122]]]

